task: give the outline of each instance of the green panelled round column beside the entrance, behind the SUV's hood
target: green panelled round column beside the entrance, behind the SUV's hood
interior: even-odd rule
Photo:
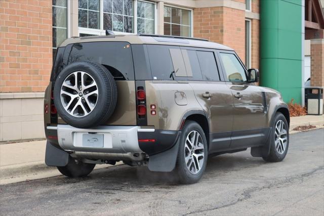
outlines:
[[[260,1],[261,85],[302,102],[302,0]]]

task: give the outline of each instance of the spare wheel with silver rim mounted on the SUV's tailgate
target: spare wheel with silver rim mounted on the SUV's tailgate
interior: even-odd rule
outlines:
[[[114,111],[117,87],[103,65],[80,61],[59,73],[53,96],[57,112],[67,124],[95,127],[105,123]]]

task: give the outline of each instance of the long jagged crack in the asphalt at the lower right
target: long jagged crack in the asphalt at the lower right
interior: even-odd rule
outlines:
[[[324,168],[324,166],[319,166],[319,167],[314,168],[314,169],[312,169],[312,170],[310,170],[308,172],[305,172],[304,174],[299,174],[299,175],[291,176],[289,178],[285,178],[285,179],[282,179],[282,180],[279,180],[279,181],[275,181],[273,183],[270,183],[270,184],[265,185],[265,186],[262,186],[262,187],[253,187],[253,188],[250,188],[250,189],[245,190],[243,193],[240,194],[242,196],[241,198],[238,198],[238,199],[236,199],[234,201],[231,201],[231,202],[229,202],[227,204],[220,205],[220,206],[213,206],[213,207],[206,208],[206,209],[203,209],[203,210],[191,211],[191,212],[186,213],[184,215],[196,214],[196,213],[201,213],[201,212],[206,212],[206,211],[212,211],[212,210],[216,210],[216,209],[220,209],[220,208],[224,208],[224,207],[228,207],[228,206],[235,205],[235,204],[237,204],[239,202],[242,202],[242,201],[245,201],[247,199],[250,199],[252,197],[251,194],[254,193],[254,192],[256,192],[256,191],[262,191],[264,189],[270,189],[270,188],[273,188],[273,187],[280,188],[285,183],[291,183],[291,182],[298,181],[298,180],[301,180],[303,182],[304,181],[304,178],[310,177],[316,171],[322,170],[323,168]]]

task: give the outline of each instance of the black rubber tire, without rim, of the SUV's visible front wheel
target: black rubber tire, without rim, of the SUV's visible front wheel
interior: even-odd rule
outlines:
[[[278,121],[283,121],[285,126],[286,126],[286,131],[287,131],[287,144],[285,151],[283,151],[281,154],[276,150],[276,144],[275,144],[275,127]],[[279,162],[284,160],[284,158],[287,155],[288,152],[288,147],[289,147],[289,125],[287,122],[286,117],[280,113],[277,112],[274,116],[273,122],[272,122],[272,130],[270,134],[270,138],[268,140],[268,145],[270,145],[270,151],[268,156],[263,156],[262,158],[267,161],[267,162]]]

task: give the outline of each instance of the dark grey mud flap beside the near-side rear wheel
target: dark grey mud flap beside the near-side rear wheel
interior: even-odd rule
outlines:
[[[171,149],[150,156],[148,160],[148,169],[158,172],[171,172],[176,166],[179,150],[179,140],[180,139],[177,140],[176,144]]]

